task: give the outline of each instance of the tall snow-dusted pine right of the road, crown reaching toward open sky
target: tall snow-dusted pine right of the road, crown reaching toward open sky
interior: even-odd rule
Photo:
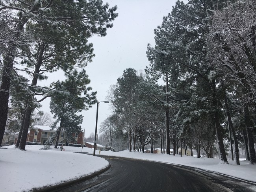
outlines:
[[[211,96],[212,113],[215,120],[215,131],[221,159],[228,163],[223,144],[223,133],[220,124],[221,106],[219,105],[218,79],[214,68],[206,59],[206,35],[210,24],[210,16],[215,9],[225,6],[223,2],[191,0],[187,4],[177,1],[172,13],[163,18],[163,23],[156,30],[157,54],[150,57],[165,59],[166,67],[174,78],[189,78],[191,85],[204,83]],[[169,63],[168,63],[169,62]],[[160,62],[159,62],[160,63]],[[171,73],[174,72],[174,73]],[[175,73],[176,72],[176,73]],[[178,72],[178,73],[177,73]],[[176,79],[177,79],[176,78]],[[210,87],[210,89],[208,89]],[[198,95],[200,96],[200,95]]]

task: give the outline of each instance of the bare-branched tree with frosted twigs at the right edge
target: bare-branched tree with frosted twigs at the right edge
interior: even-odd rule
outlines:
[[[255,106],[256,90],[255,9],[255,2],[237,1],[224,10],[216,11],[212,17],[208,39],[208,59],[212,62],[211,65],[218,68],[231,85],[240,87],[236,91],[241,90],[243,98],[251,164],[256,163],[252,130],[254,122],[249,110],[250,105]]]

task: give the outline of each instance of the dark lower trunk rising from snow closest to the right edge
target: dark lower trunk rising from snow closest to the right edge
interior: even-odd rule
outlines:
[[[253,133],[252,133],[252,127],[254,125],[253,125],[253,122],[250,120],[250,113],[247,105],[244,107],[244,111],[245,111],[245,125],[246,125],[246,131],[247,131],[247,139],[248,139],[248,145],[249,145],[250,164],[255,164],[256,154],[255,154],[254,140],[253,140]]]

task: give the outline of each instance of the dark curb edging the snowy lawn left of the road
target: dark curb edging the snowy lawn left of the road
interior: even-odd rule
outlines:
[[[81,183],[83,181],[86,181],[87,179],[91,179],[97,175],[102,174],[103,172],[105,172],[106,170],[108,170],[111,167],[110,163],[108,163],[108,166],[106,168],[103,168],[102,170],[98,170],[96,172],[94,172],[91,175],[86,175],[84,177],[81,177],[79,179],[74,179],[72,181],[67,181],[64,183],[60,183],[58,185],[53,185],[53,186],[43,186],[42,188],[36,188],[36,189],[32,189],[30,190],[30,192],[57,192],[63,188],[66,188],[70,185],[74,185],[77,183]]]

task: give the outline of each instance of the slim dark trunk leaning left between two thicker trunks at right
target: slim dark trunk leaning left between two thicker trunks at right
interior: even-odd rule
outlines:
[[[233,135],[233,138],[234,138],[234,142],[235,142],[236,164],[240,165],[238,142],[237,142],[235,128],[234,128],[234,125],[233,125],[233,122],[232,122],[232,119],[231,119],[231,115],[230,115],[230,109],[229,109],[228,99],[227,99],[226,93],[225,93],[225,96],[224,96],[224,100],[225,100],[225,106],[226,106],[227,116],[228,116],[228,127],[229,127],[229,130],[232,132],[232,135]],[[232,155],[232,161],[233,161],[234,157],[233,157],[232,138],[231,138],[230,131],[229,131],[229,134],[230,134],[230,146],[231,146],[231,155]]]

